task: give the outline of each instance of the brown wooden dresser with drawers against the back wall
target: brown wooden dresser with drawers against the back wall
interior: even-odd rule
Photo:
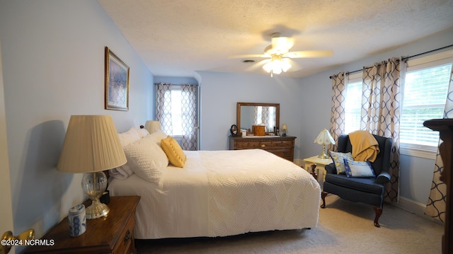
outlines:
[[[230,150],[263,149],[277,156],[294,161],[296,137],[229,137]]]

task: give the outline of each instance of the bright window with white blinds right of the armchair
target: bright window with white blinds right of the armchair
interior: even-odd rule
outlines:
[[[452,64],[414,69],[406,73],[401,112],[400,142],[415,149],[433,149],[439,132],[423,126],[425,120],[442,118]]]

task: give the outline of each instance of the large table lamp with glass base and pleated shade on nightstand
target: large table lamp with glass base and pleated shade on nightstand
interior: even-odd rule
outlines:
[[[86,173],[82,189],[92,200],[86,208],[86,219],[107,216],[110,209],[99,198],[107,187],[102,171],[127,162],[110,115],[72,115],[64,137],[57,170]]]

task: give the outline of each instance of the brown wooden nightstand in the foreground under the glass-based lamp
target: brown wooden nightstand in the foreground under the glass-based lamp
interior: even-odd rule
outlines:
[[[135,253],[135,209],[139,200],[139,196],[110,197],[107,217],[87,219],[81,236],[69,236],[66,217],[41,238],[53,242],[53,246],[32,246],[26,253]]]

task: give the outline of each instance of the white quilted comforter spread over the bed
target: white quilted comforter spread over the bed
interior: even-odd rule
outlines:
[[[185,151],[159,183],[113,179],[110,195],[139,195],[135,238],[231,236],[318,224],[319,183],[294,163],[260,149]]]

